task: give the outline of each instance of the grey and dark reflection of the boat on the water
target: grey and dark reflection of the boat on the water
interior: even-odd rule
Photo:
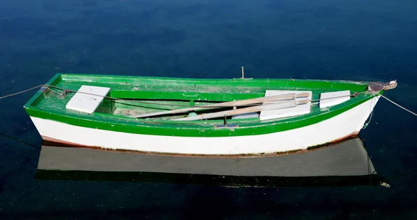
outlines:
[[[44,145],[35,178],[229,187],[386,185],[359,137],[302,153],[247,158],[150,155]]]

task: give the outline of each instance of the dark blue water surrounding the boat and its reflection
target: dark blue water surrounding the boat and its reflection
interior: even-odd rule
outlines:
[[[0,2],[0,96],[56,72],[366,81],[417,111],[417,1]],[[0,100],[0,132],[40,146],[22,108]],[[381,99],[361,137],[377,172],[417,169],[417,120]],[[225,188],[35,180],[38,149],[0,136],[2,219],[416,219],[417,174],[385,187]]]

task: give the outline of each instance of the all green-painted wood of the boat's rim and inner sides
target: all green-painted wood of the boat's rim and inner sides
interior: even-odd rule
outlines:
[[[291,79],[199,79],[56,74],[46,84],[70,90],[78,90],[81,85],[111,87],[110,96],[114,98],[140,99],[140,101],[146,101],[147,103],[137,103],[136,101],[112,101],[109,103],[105,101],[98,112],[88,115],[65,109],[66,103],[70,101],[74,94],[68,94],[64,99],[59,99],[56,96],[45,98],[42,92],[37,92],[24,105],[28,115],[87,128],[183,137],[261,135],[300,128],[334,117],[373,98],[370,94],[360,94],[350,99],[350,101],[333,106],[328,110],[320,110],[318,105],[313,105],[311,113],[308,115],[284,119],[265,121],[260,121],[257,118],[230,119],[228,120],[229,127],[225,128],[222,126],[223,119],[167,121],[167,119],[172,119],[172,117],[133,119],[124,117],[123,114],[186,108],[190,106],[190,103],[194,103],[197,106],[220,101],[258,98],[265,95],[265,90],[312,91],[312,99],[314,100],[319,99],[321,92],[339,90],[350,90],[351,94],[364,92],[366,91],[367,83]],[[172,104],[183,106],[173,107]],[[183,116],[179,115],[176,117]]]

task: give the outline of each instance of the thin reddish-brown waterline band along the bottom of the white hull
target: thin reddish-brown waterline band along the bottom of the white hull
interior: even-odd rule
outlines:
[[[88,146],[83,144],[76,144],[72,142],[66,142],[60,139],[55,139],[51,137],[45,137],[42,135],[43,143],[42,145],[45,146],[65,146],[65,147],[79,147],[79,148],[87,148],[87,149],[94,149],[97,151],[113,151],[113,152],[121,152],[121,153],[138,153],[138,154],[146,154],[146,155],[165,155],[165,156],[177,156],[177,157],[197,157],[197,158],[260,158],[260,157],[272,157],[278,155],[291,155],[295,153],[305,153],[308,151],[316,151],[318,149],[322,149],[325,147],[333,146],[334,144],[338,144],[339,142],[346,141],[347,139],[352,139],[359,135],[359,132],[351,133],[350,135],[346,135],[345,137],[341,137],[339,139],[335,139],[332,142],[328,142],[326,144],[320,144],[318,146],[309,146],[308,149],[302,150],[295,150],[295,151],[286,151],[286,152],[277,152],[277,153],[258,153],[258,154],[238,154],[238,155],[202,155],[202,154],[181,154],[181,153],[157,153],[157,152],[148,152],[148,151],[131,151],[131,150],[123,150],[123,149],[104,149],[100,146]]]

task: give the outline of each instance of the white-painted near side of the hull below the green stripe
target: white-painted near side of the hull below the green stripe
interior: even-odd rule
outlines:
[[[137,135],[83,128],[36,117],[31,117],[31,119],[40,135],[44,137],[104,149],[203,155],[258,154],[306,149],[309,146],[325,144],[359,132],[378,99],[379,96],[340,115],[310,126],[265,135],[238,137]]]

